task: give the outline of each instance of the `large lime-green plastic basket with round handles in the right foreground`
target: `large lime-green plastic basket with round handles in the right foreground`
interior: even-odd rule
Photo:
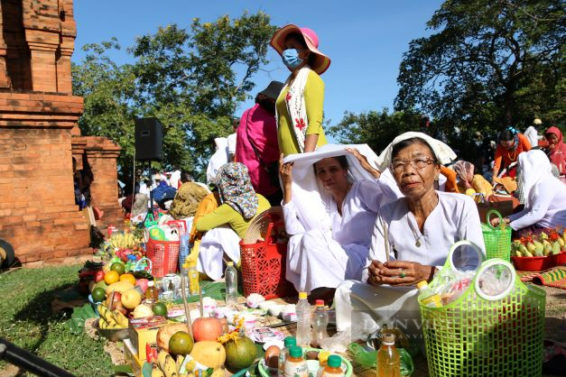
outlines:
[[[459,241],[450,248],[442,271],[455,269],[452,253],[461,245],[481,253],[477,245]],[[479,277],[494,268],[506,274],[508,286],[488,296]],[[432,280],[432,288],[441,284],[441,276]],[[458,299],[441,308],[420,305],[430,376],[540,376],[545,302],[543,290],[516,279],[511,263],[501,259],[482,262]]]

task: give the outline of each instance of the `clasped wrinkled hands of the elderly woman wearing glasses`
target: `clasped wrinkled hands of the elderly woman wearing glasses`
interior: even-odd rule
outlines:
[[[395,287],[416,285],[419,281],[431,280],[435,267],[418,262],[373,261],[369,265],[367,282],[371,285],[388,284]]]

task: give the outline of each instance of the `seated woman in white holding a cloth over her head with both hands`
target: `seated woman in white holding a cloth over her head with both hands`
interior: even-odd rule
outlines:
[[[366,156],[376,160],[367,145],[325,145],[282,163],[286,277],[311,299],[331,299],[341,281],[361,278],[379,207],[397,198]]]

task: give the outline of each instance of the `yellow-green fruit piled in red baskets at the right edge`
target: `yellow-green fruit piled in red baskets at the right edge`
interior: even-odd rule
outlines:
[[[566,262],[566,232],[555,229],[525,234],[511,244],[511,259],[520,271],[543,271]]]

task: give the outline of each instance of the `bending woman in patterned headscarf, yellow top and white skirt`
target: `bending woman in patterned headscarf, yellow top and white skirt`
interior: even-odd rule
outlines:
[[[212,280],[222,277],[225,253],[235,264],[240,262],[240,240],[255,216],[270,207],[266,198],[255,193],[246,165],[240,162],[222,166],[216,184],[222,204],[195,226],[207,232],[200,242],[197,268]]]

